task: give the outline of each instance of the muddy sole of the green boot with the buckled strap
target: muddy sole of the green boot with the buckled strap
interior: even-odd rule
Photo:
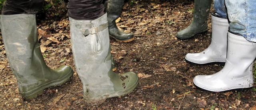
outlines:
[[[127,89],[128,90],[127,92],[120,90],[120,91],[116,91],[116,92],[112,92],[112,93],[108,93],[108,94],[103,94],[96,98],[84,98],[84,99],[87,103],[89,103],[92,106],[99,105],[99,104],[102,104],[103,102],[105,102],[105,100],[108,98],[117,97],[117,96],[125,96],[126,94],[131,93],[138,86],[138,83],[139,83],[139,79],[136,80],[136,82],[133,84],[133,86],[131,86],[130,88]],[[105,97],[108,96],[108,97],[100,99],[100,98],[102,98],[102,96],[105,96]]]

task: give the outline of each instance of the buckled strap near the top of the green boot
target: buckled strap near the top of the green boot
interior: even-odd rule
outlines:
[[[89,29],[81,29],[81,31],[84,34],[84,36],[87,36],[89,34],[96,34],[100,31],[103,31],[106,28],[108,28],[108,22],[106,22],[105,24],[102,24],[98,27],[93,27],[93,28],[89,28]]]

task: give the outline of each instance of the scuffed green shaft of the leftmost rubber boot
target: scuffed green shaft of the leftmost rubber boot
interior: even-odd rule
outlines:
[[[18,81],[37,81],[36,71],[48,67],[42,57],[38,33],[36,29],[36,16],[32,14],[2,15],[2,36],[6,55],[10,67]],[[38,60],[40,62],[38,62]],[[43,78],[43,76],[40,76]]]

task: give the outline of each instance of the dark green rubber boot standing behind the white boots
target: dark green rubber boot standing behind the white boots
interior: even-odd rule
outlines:
[[[207,18],[210,12],[212,0],[195,0],[194,2],[194,17],[191,24],[176,34],[179,39],[189,39],[197,33],[207,31]]]

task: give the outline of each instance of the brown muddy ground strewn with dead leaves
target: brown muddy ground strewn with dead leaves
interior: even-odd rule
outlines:
[[[134,33],[136,39],[120,43],[110,38],[116,73],[133,71],[140,77],[134,92],[107,99],[91,106],[82,97],[80,81],[70,43],[67,16],[38,20],[40,47],[46,64],[52,69],[70,65],[74,76],[61,86],[51,87],[33,100],[24,100],[6,58],[0,37],[0,109],[25,110],[254,110],[255,87],[226,92],[209,92],[196,88],[196,75],[210,75],[220,71],[220,65],[193,65],[184,59],[186,53],[200,52],[211,41],[211,18],[208,31],[192,39],[181,40],[175,34],[186,28],[193,18],[192,0],[134,0],[124,3],[118,27]],[[211,12],[214,10],[211,9]]]

